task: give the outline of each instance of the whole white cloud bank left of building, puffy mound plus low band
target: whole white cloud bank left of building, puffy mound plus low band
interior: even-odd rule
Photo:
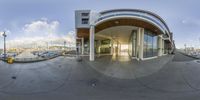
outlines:
[[[63,45],[64,41],[67,45],[75,46],[75,32],[69,31],[65,34],[58,34],[59,22],[49,21],[42,18],[25,24],[22,28],[23,36],[15,37],[7,43],[9,47],[31,47],[33,45],[46,46],[47,43],[54,45]]]

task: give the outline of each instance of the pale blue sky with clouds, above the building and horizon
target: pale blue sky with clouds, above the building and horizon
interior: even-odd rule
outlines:
[[[10,43],[59,38],[70,41],[75,10],[132,8],[160,15],[173,32],[177,48],[184,44],[200,47],[199,4],[199,0],[0,0],[0,31],[6,31]]]

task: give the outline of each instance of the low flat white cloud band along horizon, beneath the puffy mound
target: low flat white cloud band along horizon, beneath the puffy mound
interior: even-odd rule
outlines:
[[[48,37],[16,37],[13,40],[9,40],[7,44],[10,48],[17,48],[33,47],[34,45],[45,47],[47,43],[49,45],[63,45],[64,42],[66,42],[66,46],[75,47],[75,32],[70,31],[66,35],[62,36],[49,35]]]

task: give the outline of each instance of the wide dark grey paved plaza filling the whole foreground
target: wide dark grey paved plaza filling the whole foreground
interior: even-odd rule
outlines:
[[[30,64],[0,62],[0,100],[200,99],[200,63],[193,58],[176,53],[145,64],[105,58],[92,63],[65,57]],[[137,64],[131,68],[130,63]]]

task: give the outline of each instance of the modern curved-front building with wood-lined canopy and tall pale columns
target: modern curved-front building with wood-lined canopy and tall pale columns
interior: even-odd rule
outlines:
[[[145,60],[174,50],[173,34],[165,21],[145,10],[76,10],[75,28],[77,48],[89,54],[91,61],[95,54],[127,51],[131,58]]]

